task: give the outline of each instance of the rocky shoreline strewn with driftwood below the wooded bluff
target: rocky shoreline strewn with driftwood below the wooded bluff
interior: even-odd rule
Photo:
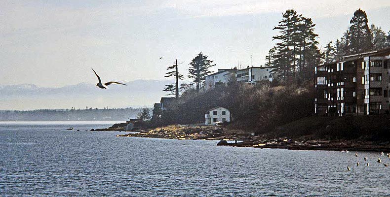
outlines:
[[[220,140],[218,145],[253,148],[280,148],[289,150],[326,150],[326,151],[373,151],[390,152],[388,141],[365,140],[293,140],[288,138],[266,139],[265,136],[253,136],[241,130],[231,130],[217,126],[168,126],[149,131],[126,133],[117,137],[151,137],[165,139],[201,139]],[[228,143],[228,141],[235,141]]]

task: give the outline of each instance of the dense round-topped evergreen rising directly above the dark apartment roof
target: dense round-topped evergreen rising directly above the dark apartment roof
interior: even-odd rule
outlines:
[[[356,10],[353,13],[350,23],[351,27],[347,37],[350,45],[347,45],[348,50],[346,50],[346,55],[372,50],[371,31],[368,27],[366,12],[361,9]]]

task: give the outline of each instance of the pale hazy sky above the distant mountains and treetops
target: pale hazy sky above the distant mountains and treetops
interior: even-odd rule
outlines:
[[[390,0],[1,0],[0,85],[60,87],[163,79],[176,58],[202,51],[214,68],[264,64],[286,9],[313,19],[321,47],[362,8],[390,30]],[[163,57],[159,60],[159,57]]]

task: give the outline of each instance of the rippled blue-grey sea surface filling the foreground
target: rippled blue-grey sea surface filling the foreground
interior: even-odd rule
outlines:
[[[220,147],[89,131],[111,125],[0,122],[0,196],[390,196],[390,167],[376,162],[379,153]]]

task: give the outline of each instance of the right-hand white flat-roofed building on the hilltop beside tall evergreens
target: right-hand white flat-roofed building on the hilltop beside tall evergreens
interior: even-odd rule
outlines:
[[[271,74],[271,67],[246,67],[244,69],[237,70],[236,72],[237,82],[242,83],[256,83],[256,81],[273,80],[273,74]]]

